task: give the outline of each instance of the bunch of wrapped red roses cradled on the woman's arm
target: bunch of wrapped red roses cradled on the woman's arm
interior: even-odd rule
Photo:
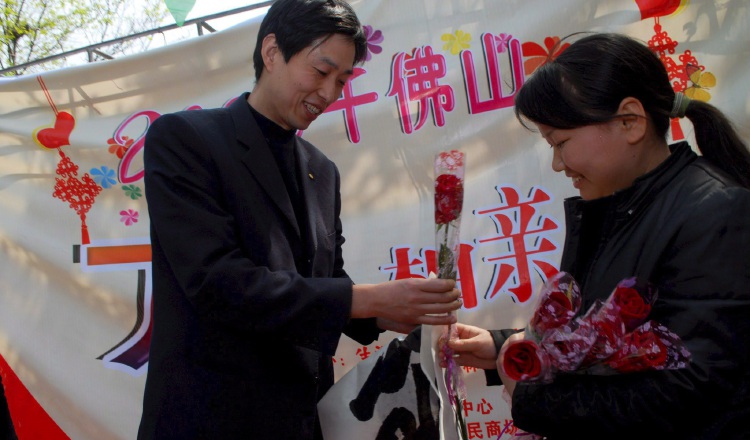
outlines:
[[[581,317],[580,290],[560,272],[545,284],[524,338],[505,344],[502,372],[515,381],[551,381],[558,372],[618,374],[687,366],[690,352],[665,326],[648,320],[657,291],[622,280]]]

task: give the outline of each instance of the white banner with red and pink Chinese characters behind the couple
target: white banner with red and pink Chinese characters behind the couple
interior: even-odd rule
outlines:
[[[556,271],[562,200],[575,191],[512,107],[557,39],[615,31],[650,42],[676,90],[700,89],[750,138],[744,0],[351,3],[367,26],[369,59],[301,134],[341,171],[346,269],[357,283],[430,272],[433,157],[460,149],[462,322],[522,327],[534,292]],[[30,413],[18,406],[28,390],[49,415],[47,433],[135,438],[150,338],[144,135],[161,114],[224,106],[251,90],[259,23],[0,80],[0,372],[17,424]],[[689,77],[696,67],[716,84]],[[679,124],[673,137],[689,139],[689,124]],[[343,340],[337,378],[394,336],[369,346]],[[466,371],[466,380],[470,438],[512,433],[500,388],[484,386],[482,372]],[[28,429],[18,429],[21,438]]]

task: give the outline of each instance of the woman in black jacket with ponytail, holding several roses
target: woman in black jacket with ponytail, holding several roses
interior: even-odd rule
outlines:
[[[619,34],[585,36],[540,67],[516,116],[580,192],[565,201],[560,269],[580,284],[581,310],[624,278],[646,279],[659,289],[650,319],[692,361],[549,384],[501,375],[515,425],[549,439],[750,438],[750,153],[731,123],[675,93],[659,58]],[[682,117],[701,156],[667,143]],[[462,325],[450,346],[460,364],[493,369],[513,333]]]

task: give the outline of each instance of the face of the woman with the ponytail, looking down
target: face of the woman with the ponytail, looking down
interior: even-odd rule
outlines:
[[[553,151],[552,169],[565,172],[584,200],[598,199],[633,184],[638,154],[621,129],[622,121],[557,129],[536,124]]]

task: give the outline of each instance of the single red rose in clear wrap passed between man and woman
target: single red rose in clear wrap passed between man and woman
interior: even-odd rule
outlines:
[[[459,226],[464,200],[464,153],[458,150],[439,153],[435,157],[435,241],[437,277],[455,280],[458,276]],[[445,387],[453,407],[456,428],[461,440],[467,440],[464,420],[466,389],[461,368],[453,359],[447,341],[457,338],[456,327],[446,326],[440,337],[438,352],[445,361]]]

